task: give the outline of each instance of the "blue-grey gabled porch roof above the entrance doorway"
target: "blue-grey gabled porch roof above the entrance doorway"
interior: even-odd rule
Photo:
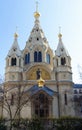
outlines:
[[[47,93],[49,96],[53,96],[54,94],[57,94],[57,92],[53,91],[52,89],[46,87],[46,86],[42,86],[42,87],[38,87],[38,85],[34,85],[32,86],[29,90],[28,93],[30,94],[30,96],[33,96],[34,94],[36,94],[39,91],[44,91],[45,93]]]

